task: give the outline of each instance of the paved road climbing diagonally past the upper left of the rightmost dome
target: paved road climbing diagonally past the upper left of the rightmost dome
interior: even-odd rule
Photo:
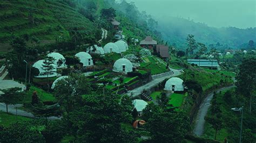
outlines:
[[[141,87],[138,87],[138,88],[136,88],[136,89],[133,89],[133,90],[128,91],[126,94],[129,95],[129,96],[132,95],[133,97],[138,96],[138,95],[142,94],[142,91],[143,91],[144,89],[145,89],[145,90],[150,89],[150,88],[152,88],[152,87],[158,85],[160,82],[164,81],[166,78],[171,78],[171,77],[178,76],[178,75],[181,74],[180,71],[177,70],[177,69],[172,69],[172,68],[171,68],[171,70],[173,71],[173,74],[172,74],[172,75],[168,75],[168,76],[156,78],[156,79],[152,80],[152,81],[149,82],[149,83],[146,83],[145,85],[143,85],[143,86],[141,86]]]

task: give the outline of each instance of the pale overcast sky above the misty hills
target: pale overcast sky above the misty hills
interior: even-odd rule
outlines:
[[[256,0],[126,0],[156,19],[193,19],[208,26],[256,27]]]

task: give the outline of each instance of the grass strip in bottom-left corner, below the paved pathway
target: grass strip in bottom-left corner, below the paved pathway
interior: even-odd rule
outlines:
[[[23,116],[17,116],[17,120],[31,120],[31,118],[23,117]],[[0,125],[8,126],[12,123],[15,123],[16,121],[16,115],[12,115],[11,113],[5,113],[0,111]]]

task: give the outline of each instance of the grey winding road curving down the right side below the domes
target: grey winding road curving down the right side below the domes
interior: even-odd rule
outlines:
[[[214,90],[214,91],[219,92],[219,91],[223,91],[223,90],[226,90],[226,89],[231,89],[233,87],[235,87],[235,86],[231,85],[229,87],[220,88],[220,89],[217,89],[217,90]],[[208,111],[209,107],[211,106],[211,101],[212,101],[212,98],[213,98],[213,92],[214,91],[212,91],[210,94],[208,94],[205,97],[205,99],[201,103],[200,108],[198,110],[197,118],[196,118],[196,124],[195,124],[194,131],[193,131],[193,133],[195,135],[197,135],[198,137],[200,137],[204,133],[205,116],[207,114],[207,111]]]

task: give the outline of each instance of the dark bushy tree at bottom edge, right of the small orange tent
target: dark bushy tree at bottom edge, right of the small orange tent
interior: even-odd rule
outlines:
[[[183,112],[155,112],[147,121],[152,142],[181,142],[190,131],[190,120]]]

